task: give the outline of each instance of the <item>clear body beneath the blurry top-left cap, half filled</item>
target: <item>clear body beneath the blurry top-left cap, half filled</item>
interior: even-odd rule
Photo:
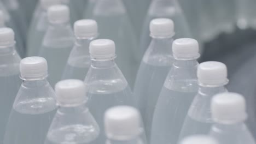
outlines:
[[[71,26],[67,23],[49,26],[39,56],[48,62],[49,82],[54,86],[61,80],[69,53],[74,45],[74,36]]]

